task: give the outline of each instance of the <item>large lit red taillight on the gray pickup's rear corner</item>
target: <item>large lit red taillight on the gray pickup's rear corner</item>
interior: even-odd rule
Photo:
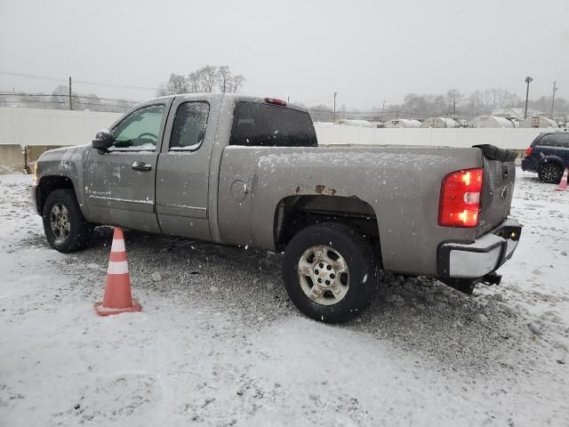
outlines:
[[[438,225],[441,227],[476,227],[480,213],[480,194],[484,169],[466,169],[449,173],[441,184]]]

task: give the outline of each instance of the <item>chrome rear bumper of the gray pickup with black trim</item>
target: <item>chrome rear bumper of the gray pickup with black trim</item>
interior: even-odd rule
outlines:
[[[474,243],[442,243],[437,251],[438,277],[476,279],[498,270],[514,254],[521,232],[519,222],[506,219]]]

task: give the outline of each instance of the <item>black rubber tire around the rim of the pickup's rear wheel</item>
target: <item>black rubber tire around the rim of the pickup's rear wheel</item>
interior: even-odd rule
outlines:
[[[308,280],[305,275],[301,275],[299,272],[301,257],[309,260],[305,254],[309,253],[310,248],[317,246],[333,248],[334,252],[327,253],[330,255],[328,259],[331,259],[332,254],[337,252],[348,265],[349,286],[343,287],[347,291],[338,302],[328,302],[331,305],[316,302],[303,290],[307,288],[307,283],[316,286],[316,282],[312,278],[316,277],[320,280],[320,276],[311,276]],[[318,271],[314,269],[320,265],[317,263],[316,255],[313,260],[312,273]],[[337,260],[340,258],[336,258]],[[311,225],[299,231],[286,246],[283,262],[284,286],[294,305],[309,318],[325,323],[341,323],[349,320],[349,318],[356,317],[372,302],[380,277],[378,261],[372,246],[356,230],[336,222]],[[327,265],[325,268],[327,269]],[[335,270],[333,271],[335,272]],[[337,280],[340,281],[341,277],[338,276]],[[319,287],[319,289],[321,288]],[[330,296],[332,296],[332,301],[336,300],[332,291],[326,292],[329,295],[326,297],[324,294],[326,300],[330,300]]]

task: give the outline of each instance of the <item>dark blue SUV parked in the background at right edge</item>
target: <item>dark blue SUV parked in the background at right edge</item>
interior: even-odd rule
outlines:
[[[522,160],[522,170],[537,172],[540,181],[558,183],[569,167],[569,132],[541,133]]]

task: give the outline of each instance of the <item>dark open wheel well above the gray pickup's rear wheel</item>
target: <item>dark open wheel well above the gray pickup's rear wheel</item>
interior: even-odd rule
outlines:
[[[340,222],[367,238],[381,259],[380,231],[373,207],[357,197],[291,196],[276,205],[274,238],[277,251],[293,236],[319,222]]]

